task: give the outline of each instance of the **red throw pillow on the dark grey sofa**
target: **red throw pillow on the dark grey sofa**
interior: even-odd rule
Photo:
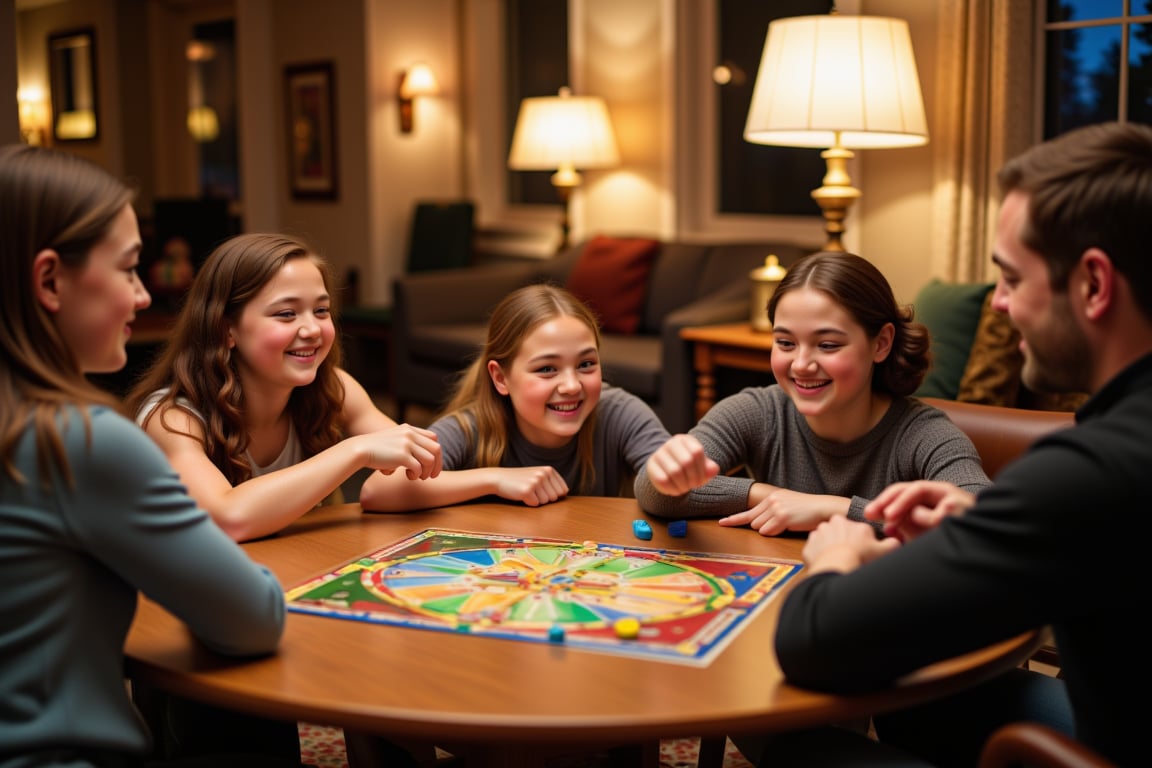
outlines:
[[[584,245],[564,287],[592,307],[605,333],[636,333],[659,250],[655,239],[597,235]]]

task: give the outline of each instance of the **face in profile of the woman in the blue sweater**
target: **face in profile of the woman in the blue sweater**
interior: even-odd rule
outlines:
[[[136,274],[139,253],[136,212],[126,205],[82,267],[56,265],[56,328],[84,373],[119,371],[128,362],[129,324],[152,303]]]

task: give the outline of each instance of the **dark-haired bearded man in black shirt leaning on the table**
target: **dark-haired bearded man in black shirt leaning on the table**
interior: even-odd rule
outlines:
[[[776,654],[793,684],[859,692],[1051,625],[1064,680],[1014,670],[878,716],[881,742],[971,766],[1003,721],[1059,727],[1070,705],[1067,729],[1136,763],[1147,759],[1147,709],[1131,702],[1152,675],[1123,655],[1145,637],[1152,541],[1152,128],[1071,131],[1010,160],[999,182],[993,307],[1021,332],[1023,381],[1092,397],[1076,426],[1038,441],[977,496],[925,481],[886,489],[865,516],[894,538],[847,518],[813,531]]]

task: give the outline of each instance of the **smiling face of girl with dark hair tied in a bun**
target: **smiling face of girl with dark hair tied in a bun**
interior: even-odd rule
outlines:
[[[851,440],[871,425],[872,367],[893,334],[889,324],[869,339],[827,294],[797,288],[776,303],[772,373],[817,434]]]

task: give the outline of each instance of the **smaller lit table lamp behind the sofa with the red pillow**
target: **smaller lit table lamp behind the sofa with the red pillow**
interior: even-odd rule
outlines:
[[[573,96],[560,89],[559,96],[524,99],[520,104],[513,132],[508,167],[513,170],[553,170],[552,184],[563,204],[560,249],[568,245],[571,229],[568,203],[579,187],[577,168],[611,168],[620,164],[616,138],[604,99]]]

